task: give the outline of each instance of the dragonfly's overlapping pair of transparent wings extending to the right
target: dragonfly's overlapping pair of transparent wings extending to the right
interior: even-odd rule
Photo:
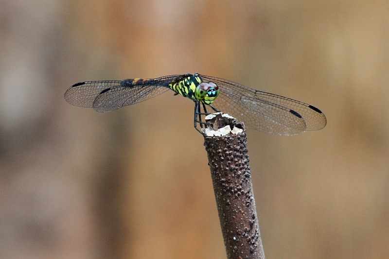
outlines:
[[[327,120],[316,107],[262,92],[225,79],[201,75],[219,86],[216,109],[243,121],[248,128],[276,135],[297,135],[324,128]]]

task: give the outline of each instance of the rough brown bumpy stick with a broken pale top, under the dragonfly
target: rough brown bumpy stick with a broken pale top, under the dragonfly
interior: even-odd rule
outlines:
[[[265,259],[243,123],[237,123],[232,117],[222,117],[220,113],[211,119],[209,117],[206,121],[211,125],[203,129],[204,146],[208,153],[227,258]],[[232,132],[223,130],[225,126],[230,126]]]

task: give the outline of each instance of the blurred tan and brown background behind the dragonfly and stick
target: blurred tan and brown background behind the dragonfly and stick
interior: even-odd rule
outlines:
[[[267,259],[389,258],[388,42],[386,0],[0,1],[0,258],[225,258],[190,100],[63,99],[193,72],[327,117],[247,132]]]

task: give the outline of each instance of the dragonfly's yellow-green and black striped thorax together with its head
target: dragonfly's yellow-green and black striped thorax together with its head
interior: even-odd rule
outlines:
[[[219,89],[214,83],[205,83],[201,76],[185,74],[169,84],[170,89],[177,94],[187,97],[194,102],[201,101],[204,104],[212,104],[219,94]]]

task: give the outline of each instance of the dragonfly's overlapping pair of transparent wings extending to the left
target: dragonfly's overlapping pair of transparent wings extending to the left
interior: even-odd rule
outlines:
[[[76,106],[93,107],[98,112],[109,112],[145,101],[169,90],[169,84],[180,76],[182,75],[153,79],[80,82],[69,87],[64,98]]]

